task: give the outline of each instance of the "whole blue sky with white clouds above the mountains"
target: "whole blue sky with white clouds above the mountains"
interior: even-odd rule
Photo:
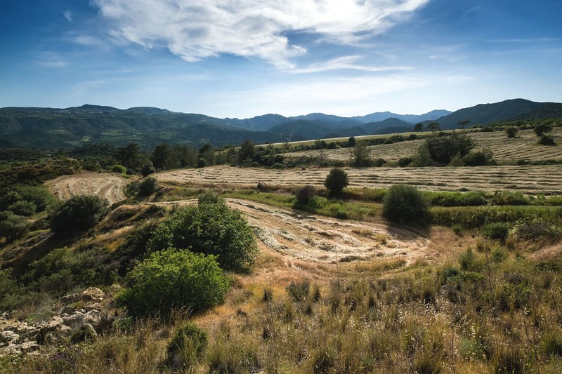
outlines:
[[[0,107],[220,118],[562,102],[560,0],[6,0]]]

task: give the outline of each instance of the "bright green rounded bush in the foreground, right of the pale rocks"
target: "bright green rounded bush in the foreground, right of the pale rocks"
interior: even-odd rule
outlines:
[[[168,316],[172,309],[193,312],[220,305],[229,283],[216,257],[169,248],[152,253],[127,276],[129,288],[116,301],[134,316]]]

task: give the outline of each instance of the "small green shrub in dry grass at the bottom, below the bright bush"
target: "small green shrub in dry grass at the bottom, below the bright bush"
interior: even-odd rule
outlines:
[[[189,368],[207,348],[207,333],[194,323],[185,323],[176,330],[166,348],[166,363],[174,370]]]

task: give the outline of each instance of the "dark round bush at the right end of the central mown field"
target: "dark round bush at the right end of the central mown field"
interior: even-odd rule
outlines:
[[[382,215],[393,222],[421,222],[428,213],[429,203],[418,189],[409,185],[393,185],[382,202]]]

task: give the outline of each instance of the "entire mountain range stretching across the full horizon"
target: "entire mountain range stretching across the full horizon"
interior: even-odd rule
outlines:
[[[249,119],[218,119],[204,114],[185,114],[154,107],[82,105],[65,109],[5,107],[0,109],[0,147],[56,149],[104,142],[126,145],[137,142],[154,147],[162,142],[199,146],[239,145],[250,139],[257,143],[311,140],[357,135],[412,131],[415,123],[435,121],[443,129],[488,125],[512,119],[562,116],[562,104],[512,99],[480,104],[456,112],[433,110],[426,114],[376,112],[366,116],[341,117],[313,113],[285,117],[266,114]]]

